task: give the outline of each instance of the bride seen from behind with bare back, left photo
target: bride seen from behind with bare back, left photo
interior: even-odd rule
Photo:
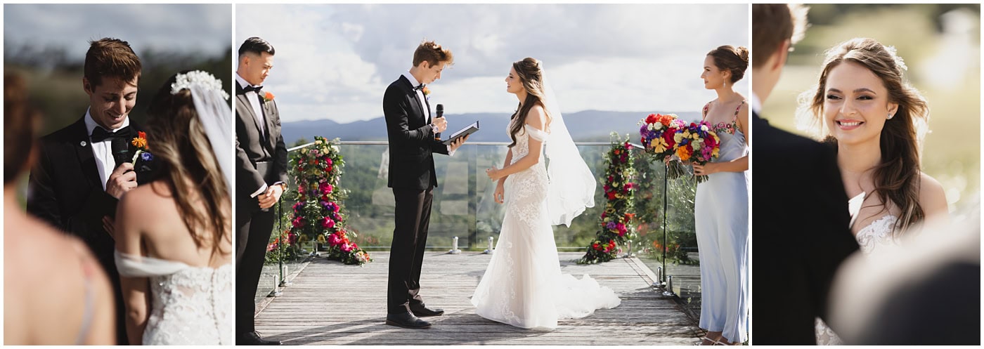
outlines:
[[[148,109],[157,178],[116,213],[131,344],[232,344],[231,112],[211,74],[182,72]]]

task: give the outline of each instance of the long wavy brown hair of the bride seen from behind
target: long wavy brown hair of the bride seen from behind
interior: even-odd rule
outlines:
[[[170,188],[195,245],[211,246],[213,256],[229,254],[221,250],[222,240],[231,242],[229,183],[222,177],[191,91],[185,88],[171,94],[176,77],[157,90],[147,111],[147,143],[154,154],[156,179]]]

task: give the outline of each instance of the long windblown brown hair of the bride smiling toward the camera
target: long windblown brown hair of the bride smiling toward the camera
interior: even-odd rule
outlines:
[[[905,231],[912,223],[925,218],[919,204],[919,179],[921,144],[928,129],[929,106],[916,88],[902,81],[902,71],[906,67],[894,48],[871,38],[858,37],[828,50],[820,82],[800,94],[797,116],[801,128],[823,134],[827,78],[830,70],[843,62],[857,63],[878,76],[889,90],[889,102],[898,104],[898,110],[882,129],[882,160],[873,169],[873,178],[874,192],[882,203],[886,203],[882,211],[889,209],[888,203],[897,205],[901,211],[894,232]],[[830,135],[823,142],[834,147],[837,144]]]

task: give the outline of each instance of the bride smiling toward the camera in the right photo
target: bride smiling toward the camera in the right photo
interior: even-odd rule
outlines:
[[[848,198],[850,229],[869,255],[914,233],[917,223],[946,220],[943,187],[920,171],[929,107],[902,81],[892,47],[853,38],[828,51],[818,86],[804,92],[799,114],[826,129]],[[817,343],[840,344],[817,320]]]

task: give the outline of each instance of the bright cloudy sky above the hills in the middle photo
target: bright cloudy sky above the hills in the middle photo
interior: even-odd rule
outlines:
[[[236,5],[235,47],[277,49],[264,84],[284,121],[382,116],[383,91],[424,38],[455,54],[431,85],[448,113],[511,113],[512,62],[544,62],[564,112],[699,111],[707,51],[749,45],[748,5]],[[748,90],[747,79],[736,86]]]

